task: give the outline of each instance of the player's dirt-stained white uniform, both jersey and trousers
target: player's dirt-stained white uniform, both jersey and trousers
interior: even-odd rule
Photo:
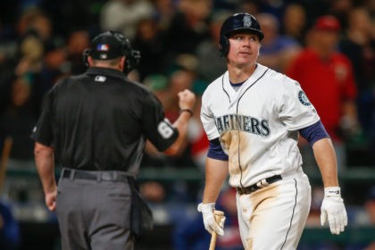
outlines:
[[[229,155],[230,186],[282,177],[249,195],[237,194],[246,249],[296,249],[311,203],[298,130],[320,121],[300,85],[258,63],[235,89],[226,71],[204,91],[201,120],[207,137],[219,137]]]

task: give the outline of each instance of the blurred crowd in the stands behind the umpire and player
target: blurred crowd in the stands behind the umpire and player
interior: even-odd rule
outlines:
[[[166,157],[152,145],[146,146],[142,169],[145,176],[146,171],[156,170],[156,178],[143,179],[142,190],[154,207],[155,221],[169,221],[173,227],[171,249],[208,248],[209,235],[195,210],[204,185],[208,147],[199,120],[199,97],[226,70],[218,42],[222,21],[234,12],[252,13],[262,26],[265,37],[259,63],[296,79],[320,113],[337,151],[339,174],[347,177],[345,173],[350,172],[353,178],[341,183],[349,227],[375,228],[374,0],[3,0],[2,6],[1,249],[24,247],[21,221],[54,220],[44,210],[37,176],[25,174],[35,170],[30,131],[46,92],[58,79],[86,71],[83,50],[108,29],[121,31],[141,52],[140,65],[129,79],[154,91],[170,121],[179,115],[177,93],[181,89],[192,89],[198,96],[186,146],[178,157]],[[299,146],[305,171],[319,177],[311,149],[303,140]],[[186,178],[180,174],[168,179],[171,172],[184,175],[185,171]],[[366,178],[361,178],[361,171]],[[319,224],[319,178],[312,178],[312,186],[307,226],[313,227]],[[229,220],[226,237],[218,242],[221,249],[241,249],[233,199],[233,190],[224,187],[220,204]],[[30,204],[34,204],[33,212],[25,212]],[[175,208],[177,204],[184,209]],[[167,215],[171,218],[165,219]],[[6,221],[13,223],[4,230]],[[3,241],[9,248],[2,247]],[[370,242],[361,244],[302,244],[301,249],[375,249],[375,243],[372,248],[365,248],[371,247]]]

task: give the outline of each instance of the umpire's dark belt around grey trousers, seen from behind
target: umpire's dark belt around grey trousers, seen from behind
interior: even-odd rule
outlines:
[[[96,179],[98,181],[128,181],[129,174],[121,171],[79,171],[63,169],[62,178],[67,179]]]

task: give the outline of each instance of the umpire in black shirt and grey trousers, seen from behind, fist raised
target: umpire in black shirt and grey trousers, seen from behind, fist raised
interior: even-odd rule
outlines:
[[[158,99],[127,78],[139,57],[120,33],[101,33],[84,53],[87,71],[61,79],[45,97],[31,137],[64,250],[133,249],[129,176],[137,177],[146,139],[172,155],[186,137],[196,96],[178,94],[181,112],[171,124]],[[54,157],[63,167],[58,187]]]

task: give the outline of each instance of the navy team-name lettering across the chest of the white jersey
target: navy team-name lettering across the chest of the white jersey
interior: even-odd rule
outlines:
[[[259,120],[242,114],[226,114],[216,117],[215,125],[220,134],[229,130],[240,130],[267,137],[271,132],[268,120]]]

